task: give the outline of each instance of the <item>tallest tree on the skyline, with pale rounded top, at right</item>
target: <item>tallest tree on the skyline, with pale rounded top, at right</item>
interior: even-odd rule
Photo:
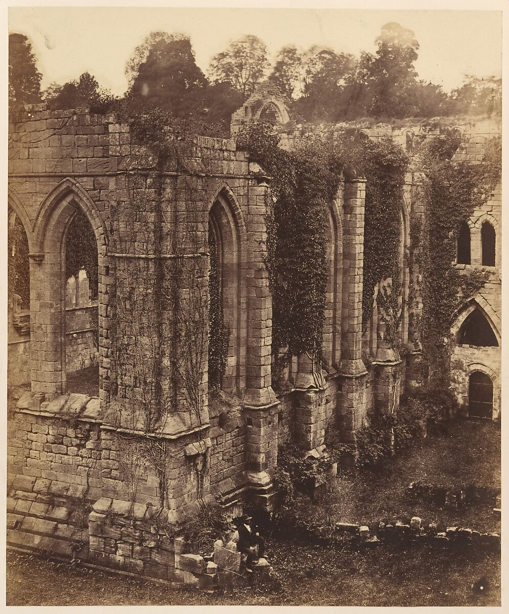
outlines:
[[[371,114],[375,117],[408,117],[415,114],[414,61],[419,43],[413,31],[398,23],[386,23],[377,37],[378,49],[370,67]]]

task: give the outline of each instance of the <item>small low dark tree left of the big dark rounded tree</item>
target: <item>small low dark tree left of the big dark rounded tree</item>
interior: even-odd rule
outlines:
[[[111,101],[112,96],[99,88],[95,77],[84,72],[77,81],[69,81],[64,85],[50,84],[44,91],[44,99],[53,109],[90,107],[92,110],[101,110],[99,107]]]

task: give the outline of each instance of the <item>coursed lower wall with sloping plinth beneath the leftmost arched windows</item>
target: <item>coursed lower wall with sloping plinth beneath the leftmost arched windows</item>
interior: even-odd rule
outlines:
[[[8,421],[7,545],[87,558],[88,514],[101,495],[98,402],[75,395],[73,418],[20,405]]]

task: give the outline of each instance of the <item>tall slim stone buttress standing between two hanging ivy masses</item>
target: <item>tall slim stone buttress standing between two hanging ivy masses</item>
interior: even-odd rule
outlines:
[[[362,426],[367,371],[362,362],[362,263],[365,179],[344,183],[343,290],[341,307],[340,408],[338,426],[345,441]]]

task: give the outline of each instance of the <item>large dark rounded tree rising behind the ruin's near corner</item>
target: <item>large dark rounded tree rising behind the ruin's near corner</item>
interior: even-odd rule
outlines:
[[[158,34],[158,33],[155,33]],[[136,61],[128,61],[126,71],[138,66],[129,95],[143,106],[160,107],[174,115],[183,116],[202,112],[208,82],[198,66],[191,42],[181,35],[168,35],[149,39],[147,55],[135,52]]]

